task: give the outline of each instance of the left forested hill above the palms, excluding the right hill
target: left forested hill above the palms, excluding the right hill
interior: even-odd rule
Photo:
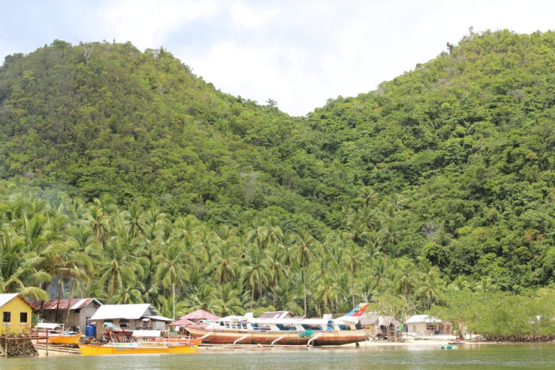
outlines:
[[[330,206],[356,195],[341,165],[308,153],[305,119],[224,94],[164,49],[56,40],[6,58],[0,102],[1,176],[83,199],[323,230]]]

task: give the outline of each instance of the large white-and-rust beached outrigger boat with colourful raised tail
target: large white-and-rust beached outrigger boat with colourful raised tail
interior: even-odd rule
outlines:
[[[268,346],[341,346],[364,342],[368,332],[361,328],[359,317],[368,303],[339,319],[296,319],[288,311],[265,312],[262,317],[228,316],[207,326],[189,325],[191,335],[208,344],[262,344]]]

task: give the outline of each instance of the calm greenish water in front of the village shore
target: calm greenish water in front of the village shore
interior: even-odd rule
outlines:
[[[457,350],[439,346],[350,349],[202,349],[193,355],[80,355],[0,360],[1,369],[554,369],[553,344],[464,344]]]

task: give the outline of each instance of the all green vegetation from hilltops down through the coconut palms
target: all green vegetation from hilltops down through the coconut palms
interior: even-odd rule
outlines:
[[[173,285],[178,313],[219,315],[531,296],[555,281],[554,71],[555,33],[471,29],[375,91],[289,117],[163,48],[8,56],[0,290],[166,316]]]

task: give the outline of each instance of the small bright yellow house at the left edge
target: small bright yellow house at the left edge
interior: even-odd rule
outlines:
[[[31,328],[31,302],[21,294],[0,294],[0,333],[17,333]]]

